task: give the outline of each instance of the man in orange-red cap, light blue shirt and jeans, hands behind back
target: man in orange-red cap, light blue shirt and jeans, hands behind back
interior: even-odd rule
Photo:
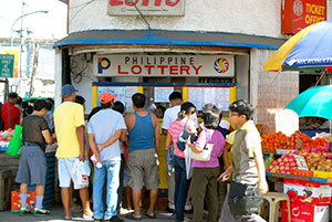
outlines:
[[[87,124],[89,144],[102,163],[94,166],[93,216],[94,221],[124,221],[117,216],[117,188],[120,186],[121,147],[120,137],[126,125],[123,116],[112,109],[116,96],[106,92],[101,94],[102,110],[93,115]],[[107,178],[107,179],[106,179]],[[104,213],[103,191],[106,179],[106,212]]]

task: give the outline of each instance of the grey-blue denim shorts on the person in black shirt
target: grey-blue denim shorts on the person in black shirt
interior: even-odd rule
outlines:
[[[46,160],[38,145],[23,145],[15,182],[45,186]]]

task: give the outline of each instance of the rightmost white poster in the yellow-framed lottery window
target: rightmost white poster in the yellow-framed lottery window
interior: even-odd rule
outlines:
[[[188,87],[188,101],[197,110],[201,110],[206,104],[214,104],[220,110],[229,109],[230,88],[228,87]]]

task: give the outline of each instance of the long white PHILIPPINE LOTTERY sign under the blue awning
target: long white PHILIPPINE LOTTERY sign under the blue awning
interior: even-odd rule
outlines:
[[[94,56],[96,76],[234,77],[232,55]]]

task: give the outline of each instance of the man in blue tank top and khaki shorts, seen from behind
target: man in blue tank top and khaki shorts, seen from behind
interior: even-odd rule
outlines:
[[[158,198],[159,177],[159,121],[155,114],[145,109],[146,97],[142,93],[132,96],[134,113],[125,117],[128,130],[128,184],[133,190],[134,213],[131,220],[142,220],[141,195],[145,186],[149,190],[147,218],[156,218],[154,212]]]

